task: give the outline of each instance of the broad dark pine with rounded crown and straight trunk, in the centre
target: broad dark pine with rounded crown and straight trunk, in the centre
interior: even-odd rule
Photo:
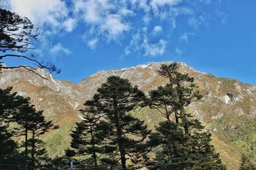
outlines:
[[[109,155],[106,162],[118,160],[122,169],[126,169],[129,158],[134,164],[143,161],[148,148],[145,144],[150,131],[147,125],[133,117],[129,111],[134,110],[145,101],[144,93],[137,86],[132,87],[127,79],[110,76],[106,83],[97,89],[91,101],[84,104],[95,107],[94,113],[100,114],[106,121],[109,132],[104,135],[104,152]],[[109,161],[107,161],[109,160]]]

